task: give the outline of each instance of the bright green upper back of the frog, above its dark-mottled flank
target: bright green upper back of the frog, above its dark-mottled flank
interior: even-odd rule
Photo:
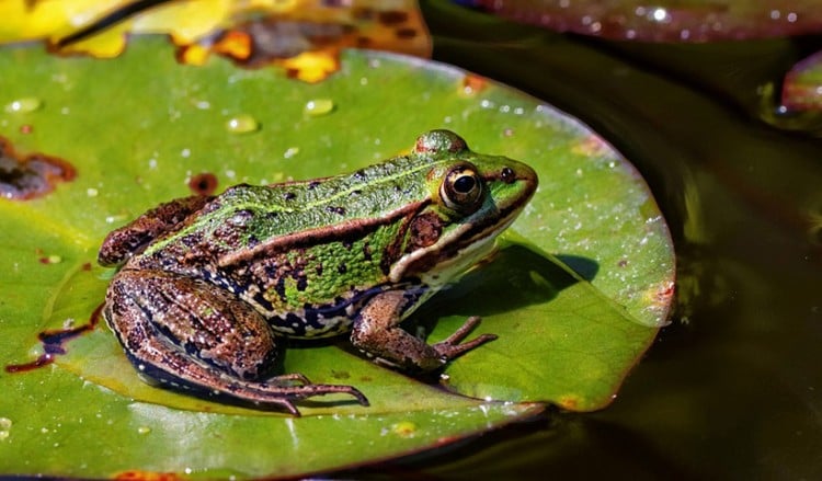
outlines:
[[[174,238],[193,232],[214,233],[224,224],[243,224],[248,250],[232,249],[220,265],[249,259],[260,251],[276,249],[296,241],[295,237],[313,237],[326,230],[343,236],[358,224],[380,225],[408,215],[418,203],[427,202],[430,193],[422,181],[425,171],[436,162],[422,156],[397,157],[354,173],[313,181],[298,181],[270,186],[238,185],[213,201]],[[152,254],[173,239],[155,242],[146,251]],[[219,244],[219,239],[215,239]]]

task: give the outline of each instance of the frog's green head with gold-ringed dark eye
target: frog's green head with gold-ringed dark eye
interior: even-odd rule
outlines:
[[[423,134],[411,156],[431,165],[424,180],[430,203],[411,219],[390,278],[436,286],[493,251],[496,236],[534,195],[537,174],[522,162],[475,153],[449,130]]]

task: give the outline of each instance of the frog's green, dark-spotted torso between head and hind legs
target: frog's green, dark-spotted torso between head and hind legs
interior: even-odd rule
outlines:
[[[230,187],[140,263],[220,285],[289,335],[331,335],[386,284],[401,232],[430,202],[432,163],[399,157],[334,177]]]

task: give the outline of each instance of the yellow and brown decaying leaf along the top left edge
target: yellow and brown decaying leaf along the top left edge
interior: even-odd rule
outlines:
[[[307,82],[336,71],[347,47],[431,53],[414,0],[9,0],[0,16],[0,44],[43,38],[59,54],[110,58],[125,50],[129,33],[164,33],[182,62],[203,65],[218,54],[242,66],[275,65]]]

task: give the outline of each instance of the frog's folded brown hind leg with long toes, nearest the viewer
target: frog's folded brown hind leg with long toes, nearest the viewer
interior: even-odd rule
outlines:
[[[361,404],[355,388],[312,385],[298,374],[265,379],[276,355],[263,317],[212,284],[163,271],[121,271],[106,294],[104,316],[144,377],[279,406],[295,415],[293,400],[342,392]]]

